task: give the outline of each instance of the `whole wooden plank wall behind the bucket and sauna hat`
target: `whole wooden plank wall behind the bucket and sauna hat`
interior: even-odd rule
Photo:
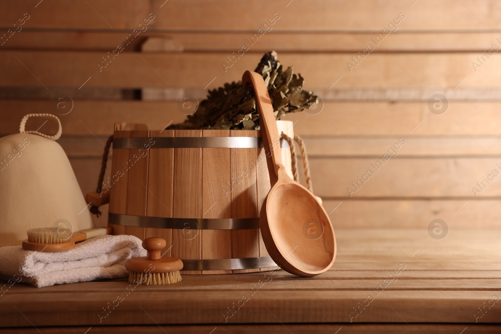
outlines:
[[[0,4],[0,134],[16,132],[27,113],[58,113],[59,142],[84,193],[96,187],[114,122],[152,130],[179,122],[179,96],[201,99],[273,49],[322,98],[320,113],[288,119],[306,141],[314,190],[335,228],[426,228],[435,218],[450,229],[501,226],[494,0]],[[243,44],[249,50],[234,56]],[[56,107],[62,94],[66,109]],[[442,109],[429,102],[435,94],[446,98]],[[374,168],[389,150],[397,155]],[[374,175],[358,181],[368,169]]]

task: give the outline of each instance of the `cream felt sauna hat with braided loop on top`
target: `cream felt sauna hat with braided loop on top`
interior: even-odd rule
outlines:
[[[25,131],[29,117],[58,122],[48,136]],[[20,245],[35,227],[93,227],[82,191],[63,148],[61,122],[52,114],[29,114],[20,133],[0,138],[0,246]]]

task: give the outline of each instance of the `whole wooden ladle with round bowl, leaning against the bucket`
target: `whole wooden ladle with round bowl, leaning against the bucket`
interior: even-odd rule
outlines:
[[[254,87],[270,172],[272,189],[260,213],[266,249],[282,269],[298,276],[316,276],[328,270],[336,258],[331,220],[315,196],[287,175],[277,121],[263,77],[246,71],[242,83],[252,83]]]

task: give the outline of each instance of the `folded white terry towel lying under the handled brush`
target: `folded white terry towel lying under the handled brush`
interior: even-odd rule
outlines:
[[[124,263],[146,256],[141,239],[133,235],[102,235],[82,241],[64,252],[42,253],[22,246],[0,247],[0,278],[37,287],[121,278]]]

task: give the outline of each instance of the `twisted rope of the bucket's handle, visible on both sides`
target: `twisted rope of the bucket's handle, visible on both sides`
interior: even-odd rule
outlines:
[[[301,157],[303,158],[303,169],[305,172],[305,179],[306,179],[306,184],[308,185],[308,189],[310,190],[311,193],[313,193],[313,184],[312,184],[312,179],[311,179],[311,174],[310,174],[310,164],[308,162],[308,154],[306,152],[306,145],[303,141],[303,139],[295,135],[294,140],[290,138],[288,135],[282,132],[282,138],[284,138],[287,143],[289,144],[290,150],[291,150],[291,160],[292,160],[292,172],[294,174],[294,180],[296,182],[299,182],[299,170],[298,170],[298,157],[296,153],[296,146],[294,145],[294,141],[296,141],[299,145],[299,149],[301,150]],[[101,160],[101,170],[99,171],[99,178],[97,181],[97,188],[96,192],[98,194],[101,193],[103,189],[103,180],[104,180],[104,174],[106,172],[106,165],[108,162],[108,154],[110,153],[110,147],[111,144],[113,143],[113,135],[111,135],[108,140],[106,140],[105,148],[103,151],[103,159]],[[92,205],[90,208],[91,213],[95,214],[97,217],[101,215],[101,211],[99,211],[99,207]]]

